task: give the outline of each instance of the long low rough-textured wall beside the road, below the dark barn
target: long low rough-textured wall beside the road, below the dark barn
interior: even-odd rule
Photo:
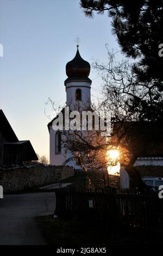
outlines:
[[[56,166],[30,166],[22,168],[0,168],[0,181],[4,192],[21,191],[57,182]],[[58,168],[59,172],[59,168]],[[65,166],[61,172],[61,180],[74,175],[72,167]]]

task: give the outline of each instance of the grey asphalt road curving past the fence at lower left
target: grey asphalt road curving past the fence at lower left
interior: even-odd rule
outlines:
[[[0,245],[46,245],[34,220],[55,209],[55,193],[4,195],[0,199]]]

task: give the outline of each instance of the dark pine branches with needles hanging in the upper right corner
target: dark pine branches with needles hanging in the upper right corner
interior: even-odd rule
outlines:
[[[137,82],[151,83],[162,92],[163,57],[159,57],[158,53],[159,45],[163,44],[163,1],[80,0],[80,6],[89,17],[93,16],[93,11],[98,14],[108,11],[112,17],[112,31],[117,36],[122,52],[136,59],[133,70]],[[158,93],[156,97],[159,96]]]

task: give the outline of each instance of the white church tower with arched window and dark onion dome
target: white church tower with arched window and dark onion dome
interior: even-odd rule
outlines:
[[[91,105],[91,66],[80,56],[78,47],[77,45],[76,56],[66,64],[66,105],[71,110],[75,106],[87,108]]]

